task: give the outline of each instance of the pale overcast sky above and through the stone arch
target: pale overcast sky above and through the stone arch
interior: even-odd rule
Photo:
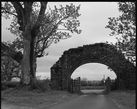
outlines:
[[[65,4],[81,4],[80,14],[80,35],[73,34],[73,37],[61,40],[57,44],[52,44],[46,51],[48,56],[37,60],[37,75],[50,77],[50,67],[61,57],[65,50],[78,46],[93,44],[97,42],[115,42],[115,37],[109,36],[110,30],[105,26],[108,23],[108,17],[116,17],[119,15],[118,5],[116,2],[50,2],[48,6],[65,5]],[[6,28],[10,25],[10,20],[2,18],[2,41],[12,41],[16,37],[12,35]],[[115,73],[107,69],[106,65],[90,63],[78,67],[72,77],[81,76],[91,80],[100,80],[106,77],[114,79]]]

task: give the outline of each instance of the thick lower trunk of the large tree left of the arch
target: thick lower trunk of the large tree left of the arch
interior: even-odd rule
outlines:
[[[29,26],[25,33],[21,83],[34,87],[36,84],[36,56],[34,52],[35,35],[32,34],[32,30]]]

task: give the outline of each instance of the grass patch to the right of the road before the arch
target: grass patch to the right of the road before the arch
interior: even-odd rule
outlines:
[[[113,91],[107,95],[120,109],[136,108],[135,91]]]

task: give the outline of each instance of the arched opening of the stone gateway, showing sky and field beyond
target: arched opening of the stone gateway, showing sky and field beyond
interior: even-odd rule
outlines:
[[[106,89],[105,81],[109,77],[111,79],[111,89],[115,90],[115,82],[117,79],[116,73],[109,69],[108,66],[100,63],[87,63],[79,66],[74,70],[71,79],[75,80],[80,77],[80,86],[76,84],[74,88],[79,89],[79,92],[88,93],[103,93]],[[78,81],[77,81],[78,82]],[[74,89],[75,90],[75,89]]]

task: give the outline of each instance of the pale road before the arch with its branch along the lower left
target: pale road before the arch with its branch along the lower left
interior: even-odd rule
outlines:
[[[119,109],[110,99],[101,94],[81,95],[68,102],[54,103],[48,106],[47,104],[39,104],[36,108],[6,102],[2,102],[1,106],[1,109]]]

